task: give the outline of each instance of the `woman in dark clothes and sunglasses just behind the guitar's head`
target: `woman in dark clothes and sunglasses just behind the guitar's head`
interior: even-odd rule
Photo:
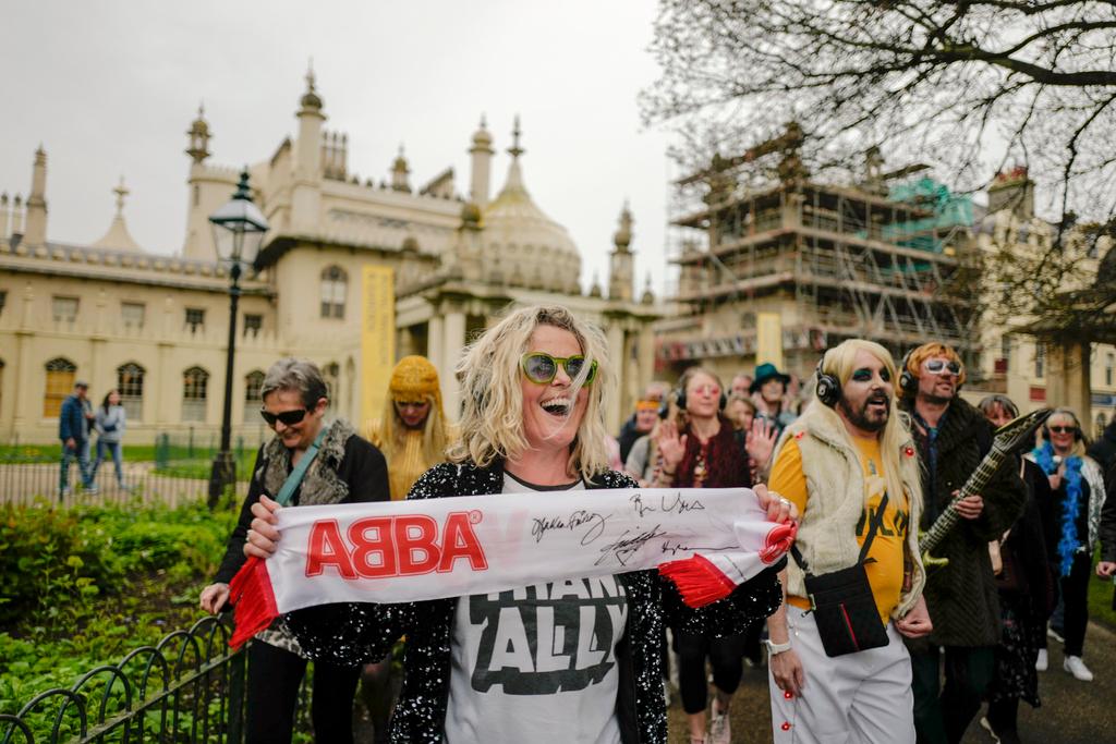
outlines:
[[[1019,416],[1019,408],[1003,395],[990,395],[977,407],[995,428]],[[1039,648],[1046,640],[1046,619],[1054,606],[1042,526],[1050,504],[1050,484],[1038,465],[1022,457],[1024,452],[1016,453],[1014,460],[1027,486],[1027,506],[1007,534],[989,543],[1003,635],[995,648],[995,673],[988,688],[988,716],[980,724],[1001,744],[1019,744],[1019,700],[1036,708],[1040,705],[1035,665],[1039,654],[1046,654]]]

